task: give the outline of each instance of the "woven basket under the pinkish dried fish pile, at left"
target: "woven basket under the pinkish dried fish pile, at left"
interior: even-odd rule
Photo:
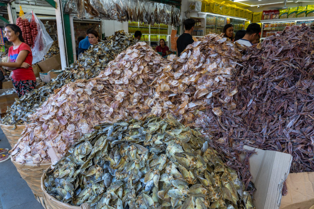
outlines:
[[[44,171],[50,167],[51,163],[33,164],[33,163],[18,163],[12,160],[12,163],[18,170],[21,177],[26,181],[34,195],[43,197],[41,190],[41,176]]]

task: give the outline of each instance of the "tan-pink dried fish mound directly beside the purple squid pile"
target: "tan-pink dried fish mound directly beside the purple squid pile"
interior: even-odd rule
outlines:
[[[172,65],[166,66],[156,80],[155,92],[147,101],[152,105],[151,112],[171,112],[183,118],[184,124],[190,124],[194,122],[193,112],[206,110],[215,98],[229,104],[237,92],[230,88],[230,82],[242,50],[225,37],[209,34],[187,46],[180,57],[170,55]],[[221,114],[218,107],[213,108],[217,115]]]

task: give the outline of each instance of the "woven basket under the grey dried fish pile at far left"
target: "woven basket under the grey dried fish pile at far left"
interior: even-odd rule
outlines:
[[[13,148],[14,145],[18,142],[19,138],[22,137],[21,133],[25,128],[25,125],[3,125],[0,124],[0,127],[7,137],[9,144]]]

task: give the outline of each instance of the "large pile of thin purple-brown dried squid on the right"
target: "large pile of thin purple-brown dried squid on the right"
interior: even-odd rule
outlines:
[[[225,149],[247,144],[289,153],[290,172],[314,171],[313,40],[314,27],[302,25],[250,47],[231,87],[238,89],[236,105],[230,108],[219,98],[212,107],[221,107],[221,116],[202,112],[196,122]]]

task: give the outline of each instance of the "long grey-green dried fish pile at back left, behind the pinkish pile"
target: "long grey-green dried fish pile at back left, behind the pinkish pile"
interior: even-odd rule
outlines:
[[[105,41],[98,43],[66,68],[51,82],[42,86],[38,90],[26,93],[7,111],[2,119],[4,125],[18,125],[29,122],[28,115],[34,113],[53,93],[55,89],[61,88],[69,82],[79,79],[89,79],[97,76],[101,70],[113,60],[122,50],[134,44],[132,35],[123,31],[117,31],[113,36],[109,36]]]

